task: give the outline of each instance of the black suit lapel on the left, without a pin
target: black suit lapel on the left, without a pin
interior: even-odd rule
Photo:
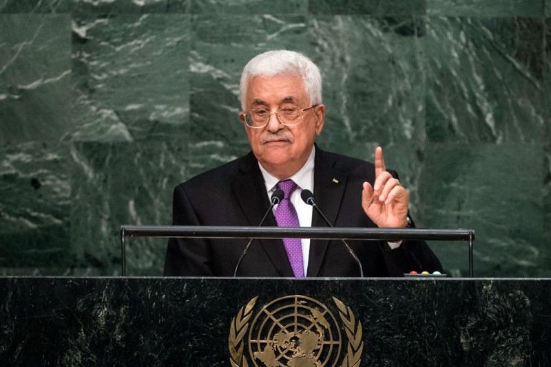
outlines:
[[[240,172],[231,184],[231,189],[233,190],[233,194],[236,195],[242,211],[245,213],[249,222],[248,225],[257,226],[262,220],[264,213],[268,210],[270,202],[266,194],[264,178],[262,177],[260,168],[258,168],[258,161],[252,152],[245,156],[240,166]],[[268,214],[262,226],[277,227],[273,212]],[[282,240],[262,238],[256,241],[260,242],[264,252],[266,252],[273,266],[280,273],[280,276],[293,276],[293,269],[291,268],[291,263],[289,263]],[[256,241],[253,241],[252,245],[255,245]]]

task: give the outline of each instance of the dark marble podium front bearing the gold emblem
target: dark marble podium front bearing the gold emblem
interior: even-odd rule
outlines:
[[[3,277],[0,294],[2,366],[551,364],[551,280]]]

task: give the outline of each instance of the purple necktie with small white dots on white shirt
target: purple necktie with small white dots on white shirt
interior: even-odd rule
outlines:
[[[300,227],[295,205],[290,200],[291,194],[297,189],[297,184],[292,179],[286,179],[279,181],[276,187],[283,190],[285,194],[283,200],[278,204],[278,208],[275,209],[275,221],[278,222],[278,227]],[[300,238],[282,239],[295,277],[303,278],[304,264],[302,262],[302,242]]]

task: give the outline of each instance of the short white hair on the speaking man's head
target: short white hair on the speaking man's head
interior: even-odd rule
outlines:
[[[320,69],[300,52],[278,49],[253,57],[241,74],[239,94],[241,108],[245,110],[245,98],[249,80],[253,76],[299,75],[311,104],[322,103],[322,75]]]

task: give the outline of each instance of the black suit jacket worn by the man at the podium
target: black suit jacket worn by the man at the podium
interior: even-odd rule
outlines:
[[[375,166],[360,159],[322,151],[317,146],[314,166],[316,203],[335,227],[376,227],[362,209],[362,183],[373,184]],[[338,181],[338,182],[335,182]],[[256,226],[270,202],[253,153],[202,173],[174,189],[174,225]],[[275,226],[270,212],[265,226]],[[313,227],[325,227],[313,212]],[[170,238],[166,276],[233,276],[247,238]],[[441,271],[423,241],[404,241],[390,249],[384,241],[349,241],[362,262],[364,276],[401,276],[404,272]],[[312,240],[306,276],[359,276],[357,263],[342,241]],[[238,276],[292,277],[280,239],[254,240]]]

